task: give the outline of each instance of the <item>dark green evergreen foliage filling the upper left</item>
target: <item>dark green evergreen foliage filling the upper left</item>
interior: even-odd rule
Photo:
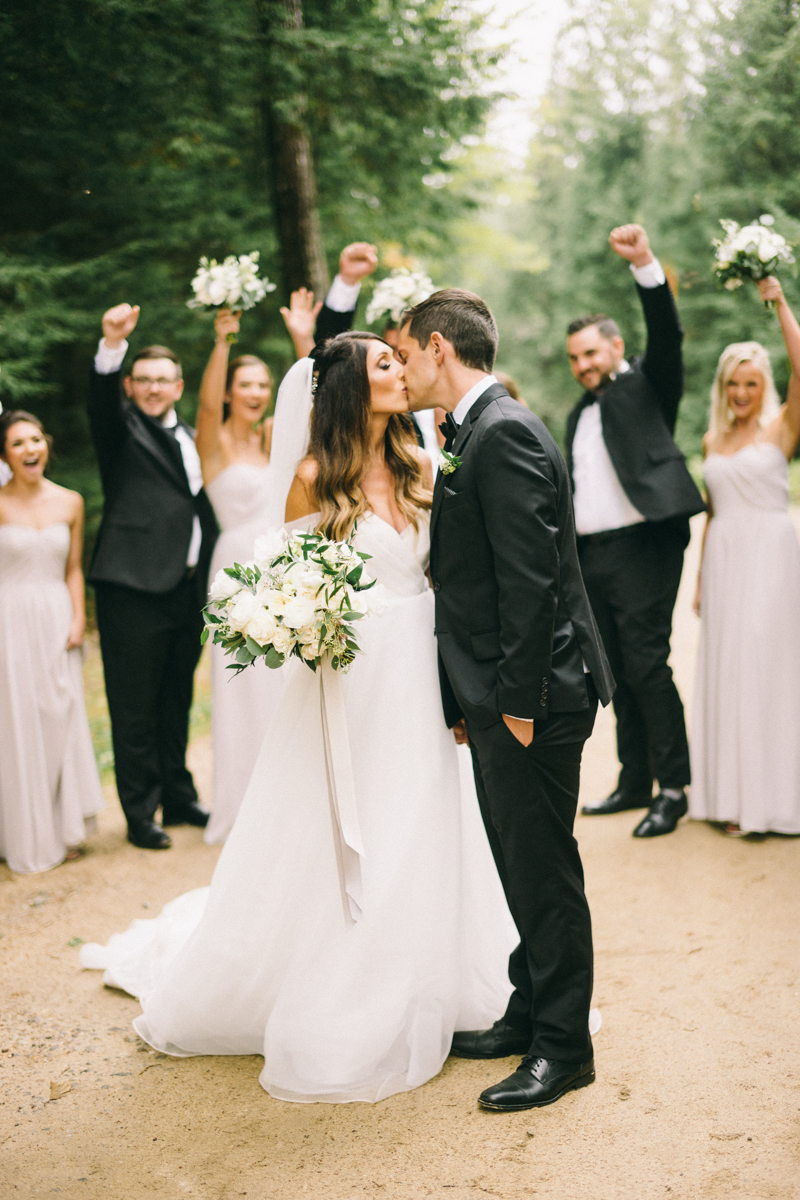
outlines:
[[[200,254],[258,250],[279,280],[267,91],[305,112],[331,265],[361,238],[439,245],[469,203],[435,186],[489,103],[477,83],[492,56],[474,47],[463,6],[308,0],[302,30],[276,23],[279,8],[2,6],[0,398],[42,416],[65,479],[94,462],[86,374],[107,307],[139,304],[134,347],[166,342],[181,355],[191,418],[212,336],[210,317],[185,304]],[[242,323],[241,349],[278,376],[291,361],[287,299],[279,289]]]

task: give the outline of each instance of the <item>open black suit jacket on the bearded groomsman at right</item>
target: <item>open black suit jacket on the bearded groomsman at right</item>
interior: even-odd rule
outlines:
[[[566,461],[572,479],[572,444],[581,413],[600,404],[608,456],[625,494],[648,521],[703,512],[703,498],[673,440],[684,392],[684,331],[668,283],[637,292],[648,326],[648,347],[631,370],[618,374],[600,400],[584,392],[566,426]]]

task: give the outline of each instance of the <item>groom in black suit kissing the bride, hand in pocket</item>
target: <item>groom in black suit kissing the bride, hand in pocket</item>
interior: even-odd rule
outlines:
[[[491,373],[498,334],[471,292],[404,313],[398,355],[411,409],[444,408],[431,575],[447,725],[469,742],[475,786],[521,942],[493,1028],[453,1055],[518,1069],[480,1103],[516,1111],[595,1078],[591,920],[572,835],[583,743],[613,679],[583,587],[572,498],[552,437]]]

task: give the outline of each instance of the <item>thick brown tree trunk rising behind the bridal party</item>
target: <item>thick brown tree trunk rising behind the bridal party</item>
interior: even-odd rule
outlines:
[[[317,206],[317,184],[311,139],[302,124],[306,98],[283,96],[276,88],[277,72],[269,70],[276,53],[285,53],[285,42],[276,46],[276,26],[283,31],[302,29],[300,0],[257,0],[260,31],[266,42],[267,70],[261,77],[264,136],[270,157],[275,217],[281,244],[283,283],[287,292],[311,288],[323,299],[329,288],[327,264]],[[283,101],[283,106],[279,104]],[[287,108],[291,116],[287,116]]]

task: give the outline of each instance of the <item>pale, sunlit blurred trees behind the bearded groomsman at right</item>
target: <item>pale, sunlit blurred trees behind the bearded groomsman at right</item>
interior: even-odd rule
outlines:
[[[610,313],[628,350],[643,348],[630,271],[607,242],[628,221],[645,226],[678,290],[682,448],[699,448],[728,342],[762,341],[778,384],[787,382],[775,317],[750,286],[721,290],[710,244],[720,217],[762,212],[800,238],[800,11],[786,0],[741,0],[733,17],[699,13],[682,0],[573,0],[530,146],[529,194],[488,217],[495,236],[539,251],[524,269],[495,272],[485,294],[499,318],[499,365],[559,436],[578,395],[564,347],[569,320]],[[462,272],[469,283],[469,264]],[[796,284],[782,280],[798,305]]]

